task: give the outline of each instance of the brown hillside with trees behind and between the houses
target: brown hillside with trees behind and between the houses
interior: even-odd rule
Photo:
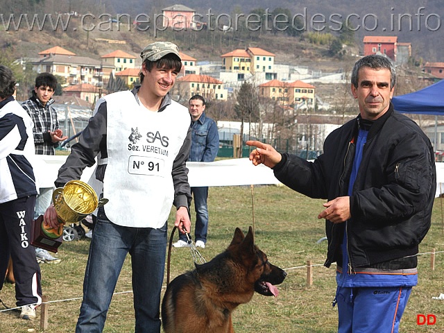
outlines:
[[[398,35],[400,42],[412,45],[411,60],[400,69],[402,78],[396,91],[405,94],[427,85],[418,80],[423,62],[443,61],[444,44],[439,37],[443,9],[426,0],[407,0],[396,6],[384,2],[370,7],[362,0],[283,0],[271,8],[264,0],[226,0],[211,7],[207,1],[189,0],[181,4],[195,9],[202,18],[198,28],[184,30],[154,24],[162,8],[175,4],[160,0],[132,1],[131,6],[117,0],[0,0],[1,8],[8,8],[0,15],[0,63],[12,67],[20,84],[17,94],[22,92],[21,97],[27,98],[23,91],[32,88],[35,73],[24,65],[26,58],[36,58],[38,52],[56,45],[78,56],[99,59],[116,49],[138,56],[150,42],[171,40],[198,62],[217,62],[221,54],[234,49],[260,47],[274,53],[278,64],[346,73],[362,52],[364,35]],[[145,26],[135,24],[141,18],[151,21]],[[285,18],[291,18],[291,27]],[[398,31],[400,23],[402,31]],[[254,88],[242,86],[225,103],[210,101],[210,115],[216,120],[271,123],[275,133],[293,141],[292,145],[296,144],[297,123],[306,123],[305,132],[311,131],[315,110],[276,108],[271,101],[257,99]],[[331,123],[346,120],[354,104],[350,84],[316,84],[316,94],[330,103]],[[261,135],[261,130],[256,134]]]

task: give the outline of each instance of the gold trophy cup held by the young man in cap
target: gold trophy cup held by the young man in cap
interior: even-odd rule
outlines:
[[[97,207],[101,207],[105,203],[108,203],[108,199],[102,198],[99,200],[94,189],[86,182],[70,180],[64,187],[58,187],[53,191],[53,205],[59,221],[58,228],[46,225],[43,216],[39,216],[33,224],[33,241],[31,241],[31,244],[57,253],[57,248],[63,241],[63,225],[85,219]]]

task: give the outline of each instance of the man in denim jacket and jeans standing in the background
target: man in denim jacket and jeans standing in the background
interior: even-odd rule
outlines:
[[[191,151],[190,162],[213,162],[219,151],[219,133],[216,121],[205,115],[205,99],[194,95],[188,101],[191,115]],[[191,187],[196,210],[194,237],[196,246],[205,248],[208,230],[208,187]],[[176,248],[188,247],[187,236],[180,234],[180,239],[173,244]]]

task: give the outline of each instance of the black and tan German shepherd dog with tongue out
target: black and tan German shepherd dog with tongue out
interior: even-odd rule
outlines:
[[[234,231],[230,246],[210,262],[179,275],[167,287],[162,300],[165,333],[234,333],[231,313],[249,302],[255,291],[278,296],[273,284],[285,273],[268,262],[254,244],[253,230]]]

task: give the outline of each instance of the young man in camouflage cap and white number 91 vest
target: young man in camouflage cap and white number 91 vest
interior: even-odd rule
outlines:
[[[101,332],[121,267],[133,266],[135,332],[160,332],[160,291],[164,278],[167,219],[190,230],[186,161],[191,147],[187,108],[169,91],[182,63],[170,42],[149,44],[141,53],[141,85],[99,100],[96,113],[60,168],[56,187],[80,179],[94,164],[109,202],[99,209],[83,284],[76,332]],[[50,206],[46,223],[57,225]]]

